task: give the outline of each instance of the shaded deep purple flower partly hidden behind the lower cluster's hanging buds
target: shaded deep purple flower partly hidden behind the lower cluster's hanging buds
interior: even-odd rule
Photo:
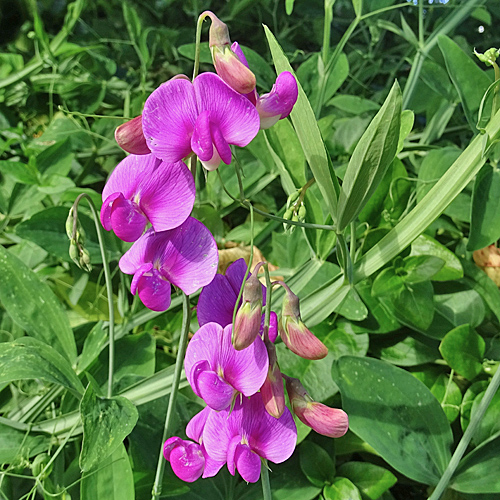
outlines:
[[[226,270],[226,274],[217,274],[214,280],[200,293],[198,299],[197,315],[200,326],[206,323],[215,322],[222,327],[233,322],[233,311],[236,305],[241,284],[245,277],[247,265],[245,259],[238,259]],[[249,275],[250,276],[250,275]],[[263,286],[263,305],[266,304],[266,289]],[[261,319],[260,334],[264,328],[264,314]],[[274,312],[271,312],[269,324],[269,338],[272,342],[278,336],[278,319]]]

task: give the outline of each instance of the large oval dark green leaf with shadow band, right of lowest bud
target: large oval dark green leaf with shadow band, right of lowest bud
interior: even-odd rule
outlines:
[[[344,356],[332,375],[349,427],[410,479],[437,484],[453,436],[441,406],[410,373],[383,361]]]

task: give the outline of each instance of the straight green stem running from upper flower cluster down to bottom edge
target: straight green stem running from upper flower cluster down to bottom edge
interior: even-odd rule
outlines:
[[[177,394],[179,392],[179,382],[181,379],[182,367],[184,365],[184,355],[186,353],[187,339],[189,334],[189,326],[191,322],[191,308],[189,306],[189,295],[182,294],[182,331],[179,339],[179,349],[177,351],[177,359],[175,360],[174,380],[172,382],[172,392],[168,400],[167,416],[165,417],[165,426],[163,427],[163,438],[160,446],[160,456],[158,457],[158,466],[156,467],[156,477],[151,492],[151,500],[158,500],[161,494],[161,485],[163,481],[163,473],[165,471],[165,458],[163,457],[163,443],[167,440],[170,432],[170,423],[174,413]]]

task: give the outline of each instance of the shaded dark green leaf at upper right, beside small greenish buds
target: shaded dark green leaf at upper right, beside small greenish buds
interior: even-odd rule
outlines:
[[[451,38],[440,35],[438,45],[451,81],[460,96],[467,121],[471,129],[476,132],[479,105],[492,82],[486,72],[482,71]]]

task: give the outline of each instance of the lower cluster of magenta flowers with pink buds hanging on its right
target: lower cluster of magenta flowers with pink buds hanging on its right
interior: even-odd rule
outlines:
[[[298,379],[282,374],[274,342],[278,330],[283,342],[307,359],[326,356],[324,344],[300,319],[297,297],[282,282],[286,297],[280,321],[271,312],[265,324],[262,305],[266,288],[254,269],[244,284],[234,327],[233,311],[246,273],[240,259],[226,275],[217,274],[198,301],[200,329],[191,339],[184,362],[186,377],[206,407],[189,422],[186,435],[172,437],[164,456],[184,481],[212,477],[227,464],[247,482],[259,479],[261,458],[287,460],[297,440],[292,413],[285,405],[283,379],[297,417],[320,434],[340,437],[347,432],[344,411],[315,402]]]

